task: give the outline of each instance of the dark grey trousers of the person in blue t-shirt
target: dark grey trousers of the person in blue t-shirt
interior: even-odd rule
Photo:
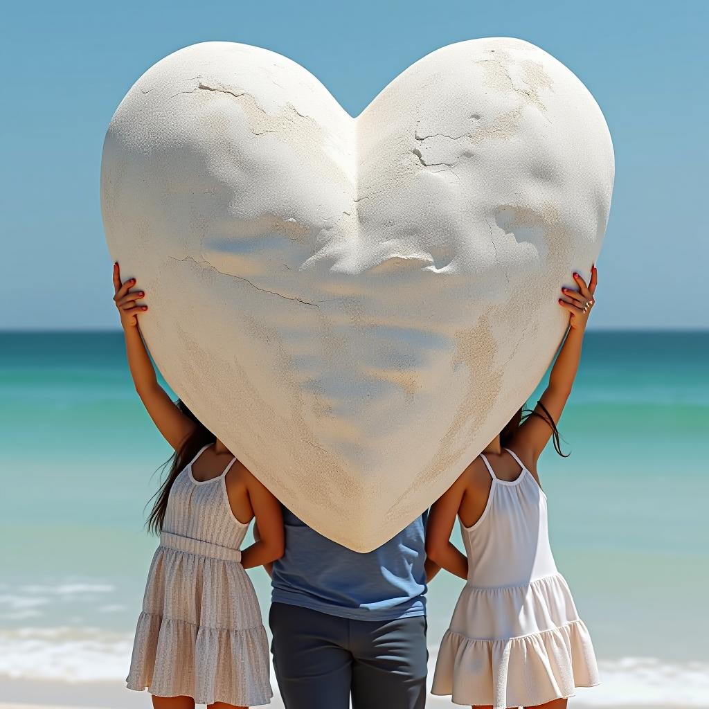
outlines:
[[[424,709],[425,616],[350,620],[272,603],[276,678],[286,709]]]

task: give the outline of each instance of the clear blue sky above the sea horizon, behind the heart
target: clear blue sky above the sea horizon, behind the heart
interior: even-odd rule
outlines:
[[[595,328],[708,328],[709,3],[13,2],[3,12],[0,329],[113,328],[101,145],[147,67],[231,40],[301,63],[356,115],[403,69],[460,40],[550,52],[596,96],[616,182]]]

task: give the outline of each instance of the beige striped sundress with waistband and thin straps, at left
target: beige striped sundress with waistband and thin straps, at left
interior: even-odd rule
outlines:
[[[249,525],[229,506],[226,475],[198,481],[192,465],[167,501],[160,546],[138,618],[129,689],[197,704],[267,704],[269,649],[239,547]]]

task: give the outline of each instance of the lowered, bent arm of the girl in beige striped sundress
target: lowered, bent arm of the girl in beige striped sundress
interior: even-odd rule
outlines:
[[[245,569],[265,566],[271,573],[272,562],[283,556],[285,530],[281,503],[251,473],[247,476],[247,493],[254,510],[255,542],[241,553]]]

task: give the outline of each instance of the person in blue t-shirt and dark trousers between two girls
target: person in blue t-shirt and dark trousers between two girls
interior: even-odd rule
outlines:
[[[269,623],[289,709],[423,709],[425,518],[367,554],[284,509]]]

